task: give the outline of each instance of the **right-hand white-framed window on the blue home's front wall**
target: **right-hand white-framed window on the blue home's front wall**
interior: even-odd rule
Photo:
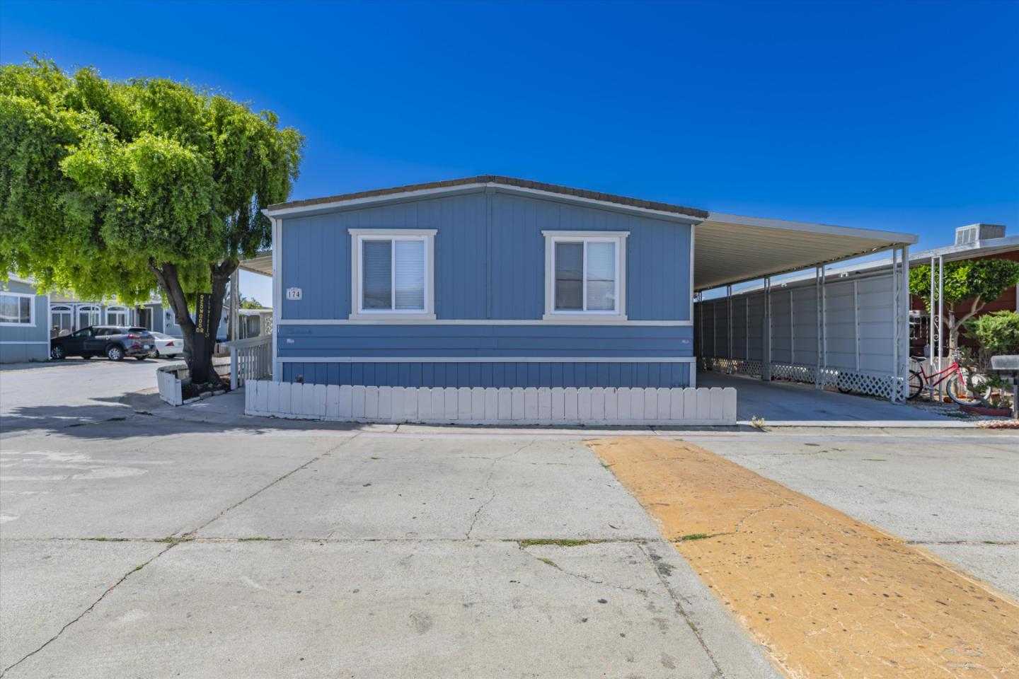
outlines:
[[[544,231],[546,321],[626,320],[626,232]]]

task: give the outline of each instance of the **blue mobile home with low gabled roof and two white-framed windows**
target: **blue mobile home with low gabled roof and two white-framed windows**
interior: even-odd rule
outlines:
[[[276,380],[695,385],[703,211],[481,176],[265,214]]]

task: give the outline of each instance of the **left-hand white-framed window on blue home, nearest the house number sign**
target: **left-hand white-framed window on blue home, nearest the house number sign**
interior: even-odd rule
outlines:
[[[434,229],[351,229],[352,319],[435,318]]]

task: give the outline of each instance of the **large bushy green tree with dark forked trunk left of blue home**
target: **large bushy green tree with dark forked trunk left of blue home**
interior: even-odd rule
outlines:
[[[162,291],[195,355],[195,294],[213,324],[240,258],[271,241],[304,137],[186,83],[108,80],[52,61],[0,66],[0,276],[126,303]],[[191,304],[190,304],[191,302]]]

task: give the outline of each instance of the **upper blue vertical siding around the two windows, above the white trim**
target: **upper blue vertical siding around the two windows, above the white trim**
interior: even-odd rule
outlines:
[[[490,214],[489,214],[490,211]],[[281,319],[351,314],[351,228],[429,228],[438,319],[535,320],[545,310],[543,230],[629,231],[627,316],[690,320],[690,226],[506,193],[475,192],[283,220]]]

